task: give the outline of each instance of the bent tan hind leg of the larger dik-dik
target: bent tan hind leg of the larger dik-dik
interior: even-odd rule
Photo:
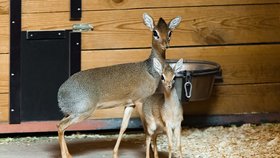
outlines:
[[[69,127],[72,124],[81,122],[85,119],[87,119],[91,113],[84,113],[82,115],[69,115],[67,117],[64,117],[59,124],[57,125],[58,127],[58,140],[59,140],[59,145],[60,145],[60,150],[61,150],[61,157],[62,158],[71,158],[72,156],[70,155],[66,142],[65,142],[65,137],[64,137],[64,132],[67,127]]]

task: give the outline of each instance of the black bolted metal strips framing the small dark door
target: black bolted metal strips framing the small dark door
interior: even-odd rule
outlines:
[[[21,0],[10,1],[10,124],[19,124],[21,122],[21,3]],[[78,10],[71,11],[71,13],[74,12],[74,14],[71,14],[70,19],[80,20],[81,2],[71,3],[71,9],[77,7],[79,8]],[[69,33],[70,76],[81,70],[81,32],[72,32],[71,30],[63,31]],[[42,36],[42,38],[52,38],[52,36],[56,36],[57,30],[42,32],[34,32],[34,34],[37,33]]]

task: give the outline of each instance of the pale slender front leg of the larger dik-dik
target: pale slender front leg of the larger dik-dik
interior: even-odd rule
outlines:
[[[122,140],[122,135],[125,132],[127,126],[128,126],[128,122],[129,122],[129,119],[130,119],[130,116],[131,116],[131,113],[132,113],[133,109],[134,109],[134,106],[127,106],[124,109],[123,120],[122,120],[121,129],[120,129],[120,132],[119,132],[119,137],[118,137],[117,143],[116,143],[116,145],[114,147],[114,151],[113,151],[113,157],[114,158],[118,158],[118,151],[119,151],[119,146],[120,146],[120,143],[121,143],[121,140]]]

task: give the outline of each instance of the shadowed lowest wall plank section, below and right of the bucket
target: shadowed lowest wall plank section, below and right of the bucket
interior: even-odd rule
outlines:
[[[209,100],[184,105],[184,113],[244,114],[280,112],[280,83],[215,86]]]

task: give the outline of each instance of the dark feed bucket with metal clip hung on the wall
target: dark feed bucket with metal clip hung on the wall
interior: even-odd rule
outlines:
[[[166,60],[171,66],[177,60]],[[219,64],[203,60],[184,60],[182,71],[176,74],[175,88],[182,102],[201,101],[210,97],[215,82],[222,81]]]

